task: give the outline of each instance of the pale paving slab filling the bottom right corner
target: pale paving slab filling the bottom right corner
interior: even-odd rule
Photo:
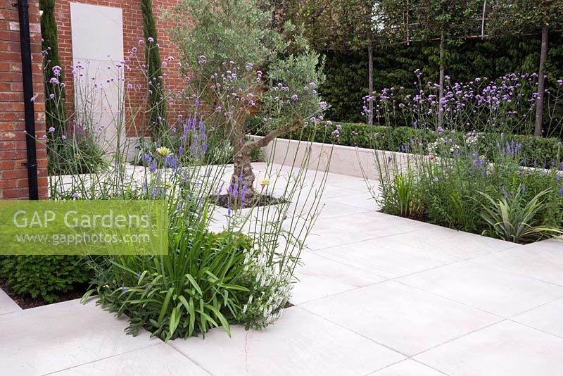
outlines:
[[[504,321],[415,357],[450,376],[563,374],[563,339]]]

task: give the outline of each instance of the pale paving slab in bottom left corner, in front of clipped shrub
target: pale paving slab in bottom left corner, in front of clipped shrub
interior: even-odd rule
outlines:
[[[30,308],[0,321],[0,374],[43,375],[157,344],[147,332],[123,331],[127,321],[96,307],[65,301]]]

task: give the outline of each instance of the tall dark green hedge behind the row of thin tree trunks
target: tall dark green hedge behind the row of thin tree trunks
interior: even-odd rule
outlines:
[[[541,37],[539,34],[500,39],[466,39],[448,44],[445,49],[445,74],[452,82],[469,82],[475,77],[491,79],[507,73],[533,73],[538,70]],[[423,81],[438,82],[440,67],[438,59],[439,41],[413,42],[401,46],[379,46],[374,49],[374,89],[384,87],[407,89],[406,94],[416,94],[413,85],[414,71],[422,70]],[[362,96],[367,89],[367,53],[344,53],[341,51],[320,51],[326,56],[324,75],[327,80],[319,91],[331,107],[327,119],[343,122],[363,122]],[[545,62],[547,89],[557,92],[557,80],[563,77],[563,35],[550,35],[550,49]],[[531,95],[531,93],[530,93]],[[554,104],[551,104],[554,105]],[[545,108],[544,129],[550,134],[560,134],[557,122],[550,121],[548,106]],[[563,115],[563,106],[557,104],[556,117]],[[400,120],[400,119],[399,119]],[[408,125],[407,125],[408,126]]]

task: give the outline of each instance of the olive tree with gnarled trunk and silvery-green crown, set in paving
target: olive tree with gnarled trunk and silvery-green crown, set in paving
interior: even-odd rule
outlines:
[[[319,55],[290,23],[274,30],[271,14],[254,0],[183,0],[168,17],[178,25],[169,33],[182,66],[201,82],[194,94],[200,111],[234,148],[229,192],[244,191],[241,204],[251,203],[253,151],[322,119],[324,102],[315,89],[324,80]],[[262,119],[260,139],[246,135],[251,115]]]

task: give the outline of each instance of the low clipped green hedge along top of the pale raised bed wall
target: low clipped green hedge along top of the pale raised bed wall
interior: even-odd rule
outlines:
[[[341,125],[339,137],[334,137],[332,132],[336,125]],[[253,134],[264,135],[260,130],[260,120],[253,118],[248,122],[248,129]],[[449,134],[451,136],[451,134]],[[523,134],[498,134],[483,133],[483,141],[480,142],[479,151],[481,155],[493,157],[507,142],[521,143],[521,158],[525,165],[531,167],[550,168],[561,163],[563,148],[561,139],[557,137],[536,137]],[[456,139],[465,136],[463,132],[454,134]],[[303,130],[286,134],[280,138],[284,139],[307,139],[312,142],[327,142],[335,140],[336,144],[343,146],[358,146],[366,149],[380,149],[387,151],[404,151],[404,147],[413,142],[424,145],[436,141],[440,137],[436,132],[430,130],[415,129],[413,127],[385,127],[380,125],[367,125],[362,123],[319,123],[316,127],[309,125]],[[335,139],[336,138],[336,139]]]

